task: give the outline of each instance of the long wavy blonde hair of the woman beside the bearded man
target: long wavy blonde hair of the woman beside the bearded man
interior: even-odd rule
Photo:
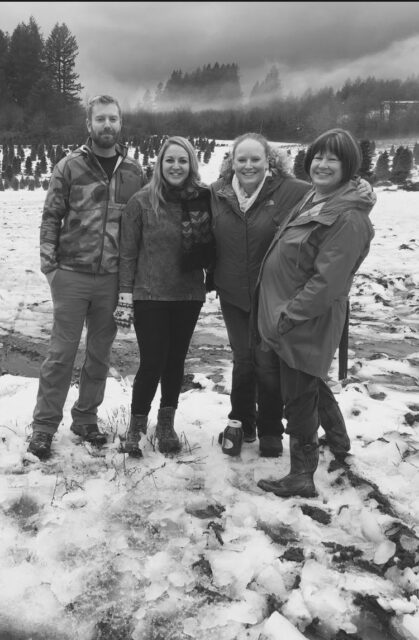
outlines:
[[[167,185],[167,182],[163,177],[162,162],[167,148],[172,144],[182,147],[182,149],[184,149],[188,154],[189,158],[189,175],[185,180],[183,190],[193,191],[201,185],[198,158],[196,156],[195,149],[186,138],[183,138],[182,136],[170,136],[160,147],[153,175],[147,185],[151,206],[157,214],[159,214],[161,209],[167,204],[163,193],[164,186]]]

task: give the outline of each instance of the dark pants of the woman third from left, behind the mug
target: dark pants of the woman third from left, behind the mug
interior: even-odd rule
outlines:
[[[231,411],[245,431],[257,423],[259,438],[278,435],[282,425],[282,398],[277,356],[250,343],[250,312],[220,299],[221,311],[233,352]],[[257,405],[257,412],[256,412]]]

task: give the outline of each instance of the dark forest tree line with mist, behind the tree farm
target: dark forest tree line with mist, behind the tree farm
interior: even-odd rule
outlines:
[[[76,38],[65,23],[46,38],[33,17],[11,35],[0,30],[0,139],[65,145],[85,139],[77,55]],[[122,138],[170,132],[228,140],[257,131],[270,140],[306,143],[336,126],[366,139],[419,133],[419,76],[348,79],[337,90],[324,87],[300,96],[285,90],[276,65],[248,96],[236,62],[177,68],[124,114]],[[407,101],[407,107],[386,118],[384,101]]]

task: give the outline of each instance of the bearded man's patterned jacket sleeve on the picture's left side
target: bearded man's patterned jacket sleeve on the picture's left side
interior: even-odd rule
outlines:
[[[67,175],[67,158],[55,165],[45,198],[40,228],[41,271],[51,284],[58,268],[57,247],[61,224],[69,208],[70,178]],[[49,275],[51,274],[51,275]]]

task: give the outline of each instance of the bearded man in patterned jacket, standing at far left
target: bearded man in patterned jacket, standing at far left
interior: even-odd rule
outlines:
[[[121,213],[144,184],[139,164],[118,144],[121,109],[107,95],[87,105],[85,145],[54,167],[41,222],[41,271],[51,288],[53,327],[40,369],[28,451],[48,458],[63,417],[74,360],[86,323],[86,353],[71,431],[101,446],[97,409],[105,391],[116,335]]]

